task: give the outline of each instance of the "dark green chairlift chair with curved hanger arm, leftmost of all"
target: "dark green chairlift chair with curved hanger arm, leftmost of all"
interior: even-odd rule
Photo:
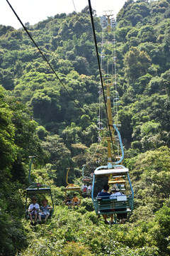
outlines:
[[[26,188],[26,205],[25,205],[25,210],[26,210],[26,220],[29,220],[29,212],[28,212],[28,206],[30,204],[30,202],[28,202],[28,198],[33,198],[35,196],[38,196],[39,200],[38,203],[40,204],[40,198],[45,199],[45,196],[47,196],[49,198],[50,203],[52,203],[52,209],[50,209],[50,215],[48,217],[48,219],[52,218],[52,214],[54,212],[54,202],[52,199],[52,193],[51,193],[51,188],[47,185],[42,185],[40,183],[33,183],[30,180],[30,171],[31,171],[31,166],[33,164],[33,160],[35,159],[35,156],[30,156],[31,161],[30,161],[30,169],[29,169],[29,174],[28,174],[28,181],[31,183],[31,186],[29,186],[28,188]],[[42,198],[43,196],[43,198]],[[45,218],[45,216],[41,215],[41,218]]]

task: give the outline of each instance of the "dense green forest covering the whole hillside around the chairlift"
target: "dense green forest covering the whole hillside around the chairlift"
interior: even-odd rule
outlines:
[[[100,77],[89,6],[25,24],[60,80],[23,28],[0,25],[2,256],[170,255],[170,0],[127,0],[115,21],[118,122],[135,196],[123,225],[97,218],[90,196],[79,209],[62,206],[67,168],[81,186],[82,166],[89,175],[96,165]],[[98,153],[105,164],[106,144]],[[29,156],[37,156],[31,179],[50,186],[55,203],[52,219],[35,227],[25,218]]]

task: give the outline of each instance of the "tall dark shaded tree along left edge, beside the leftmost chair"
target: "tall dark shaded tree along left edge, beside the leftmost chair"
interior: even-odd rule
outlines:
[[[26,107],[16,98],[6,96],[6,90],[0,87],[0,253],[5,256],[16,255],[27,245],[19,218],[24,213],[28,156],[42,156],[35,127]]]

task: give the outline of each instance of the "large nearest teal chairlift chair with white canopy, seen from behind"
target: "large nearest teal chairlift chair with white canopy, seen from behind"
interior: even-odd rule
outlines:
[[[117,223],[117,215],[120,213],[131,213],[133,210],[133,190],[130,182],[129,170],[124,166],[115,166],[113,169],[107,169],[108,166],[100,166],[94,171],[93,186],[91,198],[94,203],[94,209],[97,215],[114,215]],[[95,184],[100,178],[107,178],[110,188],[113,184],[118,185],[122,196],[115,196],[114,199],[108,197],[98,197],[98,191],[95,190]]]

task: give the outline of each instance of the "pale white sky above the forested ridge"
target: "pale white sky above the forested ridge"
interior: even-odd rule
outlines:
[[[8,0],[8,2],[23,24],[29,22],[30,25],[56,14],[79,12],[89,5],[88,0]],[[13,14],[8,2],[0,0],[0,24],[21,28],[21,23]],[[125,0],[91,0],[91,7],[96,10],[97,16],[102,16],[103,11],[110,10],[113,10],[113,14],[116,16],[124,4]]]

